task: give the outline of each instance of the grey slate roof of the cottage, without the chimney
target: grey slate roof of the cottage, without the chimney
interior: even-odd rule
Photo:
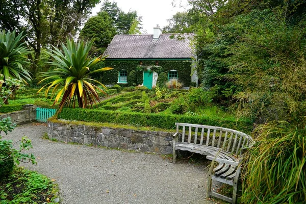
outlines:
[[[104,56],[107,59],[117,58],[191,58],[191,34],[181,34],[183,40],[170,38],[173,34],[161,34],[153,39],[152,34],[144,35],[115,35]],[[176,35],[177,36],[177,35]]]

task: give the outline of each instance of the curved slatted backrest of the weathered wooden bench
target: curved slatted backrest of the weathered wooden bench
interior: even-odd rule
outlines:
[[[251,136],[224,127],[179,122],[175,125],[180,142],[212,146],[236,156],[254,144]]]

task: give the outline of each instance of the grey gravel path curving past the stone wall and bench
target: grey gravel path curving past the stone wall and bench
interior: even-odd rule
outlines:
[[[172,164],[159,155],[72,145],[42,139],[47,127],[25,124],[4,139],[32,140],[37,165],[55,179],[62,203],[213,203],[203,167]]]

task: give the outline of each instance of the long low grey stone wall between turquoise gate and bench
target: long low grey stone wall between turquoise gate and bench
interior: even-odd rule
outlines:
[[[68,122],[48,122],[49,139],[172,154],[173,133],[141,131],[115,127],[86,126]]]

